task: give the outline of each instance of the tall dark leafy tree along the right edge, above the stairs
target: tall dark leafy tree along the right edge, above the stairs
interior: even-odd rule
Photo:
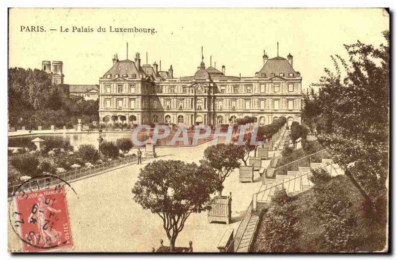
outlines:
[[[359,41],[345,45],[349,61],[331,57],[335,72],[325,69],[316,84],[319,141],[333,150],[333,161],[372,209],[378,199],[386,201],[389,172],[389,31],[383,35],[386,45],[377,48]]]

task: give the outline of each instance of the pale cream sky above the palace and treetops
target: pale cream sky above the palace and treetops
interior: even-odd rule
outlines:
[[[31,26],[42,32],[31,32]],[[61,32],[69,29],[68,32]],[[93,32],[75,32],[72,27]],[[112,28],[153,28],[156,33],[118,33]],[[39,27],[39,28],[37,28]],[[97,32],[98,27],[106,32]],[[29,28],[29,29],[27,29]],[[56,31],[51,31],[55,29]],[[226,75],[254,76],[269,58],[293,55],[302,88],[318,82],[331,55],[346,58],[343,44],[384,43],[389,29],[384,9],[10,9],[9,67],[41,68],[42,61],[62,61],[66,84],[98,84],[112,58],[174,69],[174,77],[193,75],[201,62]]]

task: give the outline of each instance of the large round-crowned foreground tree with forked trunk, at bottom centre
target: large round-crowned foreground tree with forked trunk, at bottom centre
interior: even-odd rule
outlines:
[[[163,220],[171,252],[190,214],[210,209],[216,178],[208,165],[175,160],[153,161],[140,170],[134,200]]]

